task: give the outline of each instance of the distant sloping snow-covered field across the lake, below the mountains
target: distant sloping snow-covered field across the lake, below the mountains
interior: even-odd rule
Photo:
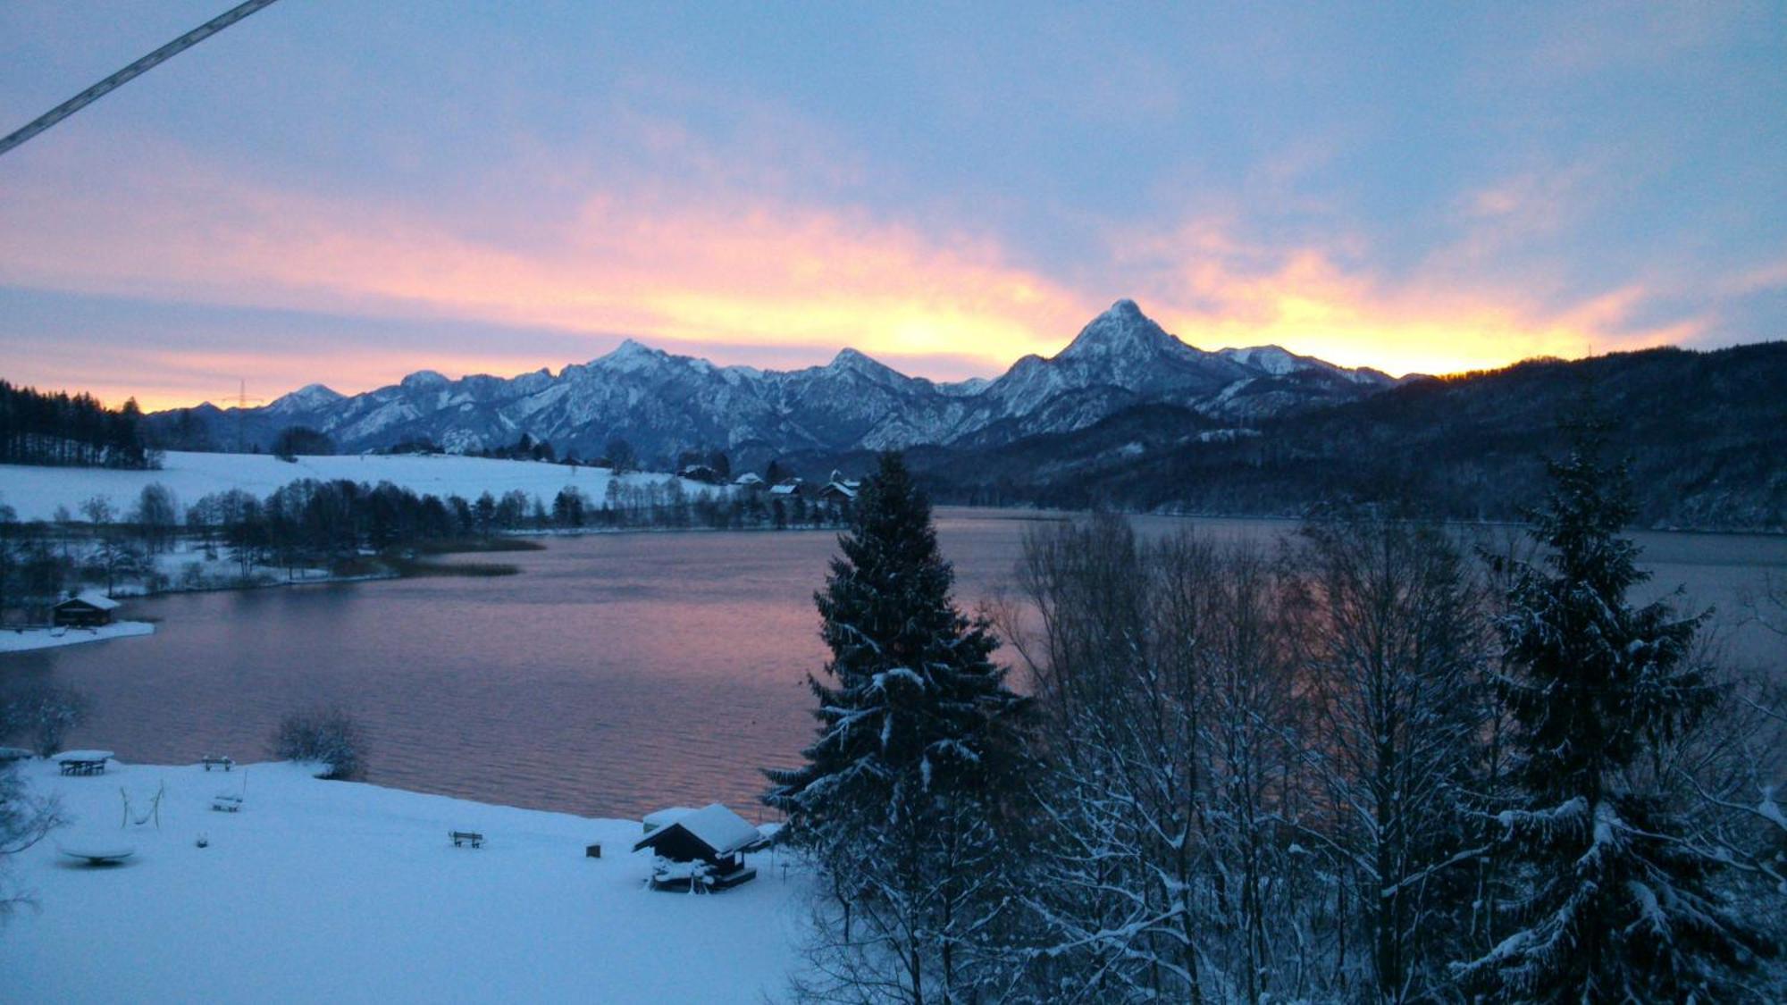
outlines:
[[[191,506],[209,492],[241,488],[259,497],[300,477],[390,481],[418,494],[440,497],[463,495],[477,499],[490,492],[520,488],[529,497],[538,495],[547,506],[559,488],[581,488],[600,504],[613,477],[608,469],[549,465],[538,461],[499,461],[490,458],[432,456],[375,456],[350,454],[331,458],[298,458],[288,463],[272,454],[188,454],[170,451],[161,470],[107,470],[82,467],[0,465],[0,502],[18,510],[20,520],[48,520],[57,506],[68,506],[80,519],[80,502],[93,495],[109,497],[114,511],[129,513],[145,485],[159,481],[173,490],[182,506]],[[656,483],[665,474],[625,474],[627,483]],[[686,483],[690,494],[709,488]]]

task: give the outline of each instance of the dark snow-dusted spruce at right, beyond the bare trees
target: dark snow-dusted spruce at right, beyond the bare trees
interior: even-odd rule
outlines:
[[[1501,1001],[1719,1001],[1760,932],[1716,889],[1716,860],[1642,762],[1716,701],[1689,646],[1701,617],[1632,606],[1637,545],[1624,465],[1585,426],[1533,515],[1542,567],[1512,569],[1501,680],[1521,805],[1496,817],[1515,892],[1510,935],[1460,976]]]

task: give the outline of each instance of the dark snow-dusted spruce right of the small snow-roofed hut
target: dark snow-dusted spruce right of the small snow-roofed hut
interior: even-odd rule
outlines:
[[[863,485],[815,595],[831,649],[810,676],[818,739],[768,771],[765,803],[831,894],[815,910],[810,998],[967,1001],[997,969],[1004,821],[1026,701],[997,642],[951,599],[931,506],[899,454]]]

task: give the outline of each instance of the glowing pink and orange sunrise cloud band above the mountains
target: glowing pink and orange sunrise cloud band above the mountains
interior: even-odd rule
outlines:
[[[270,190],[180,157],[123,168],[113,190],[88,198],[68,198],[46,177],[0,190],[0,231],[39,234],[0,243],[0,277],[13,286],[491,324],[561,340],[561,350],[529,358],[495,338],[425,354],[365,343],[323,352],[302,338],[234,352],[118,347],[111,359],[80,359],[79,381],[73,365],[38,365],[27,381],[79,383],[107,402],[136,395],[147,410],[220,401],[238,376],[275,399],[307,383],[365,392],[420,368],[556,372],[620,336],[720,365],[818,365],[854,347],[915,376],[997,376],[1028,352],[1058,352],[1117,297],[1135,297],[1199,349],[1278,343],[1394,376],[1660,345],[1701,327],[1633,331],[1639,286],[1562,309],[1444,275],[1390,286],[1337,266],[1322,249],[1247,247],[1206,220],[1113,238],[1110,272],[1122,288],[1088,291],[992,240],[854,209],[597,193],[568,220],[499,243],[434,216]]]

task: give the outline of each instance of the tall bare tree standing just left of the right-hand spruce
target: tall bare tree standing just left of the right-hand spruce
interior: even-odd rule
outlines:
[[[1485,737],[1490,651],[1464,558],[1437,529],[1378,517],[1306,524],[1290,554],[1303,756],[1322,807],[1299,832],[1351,876],[1376,1001],[1444,984],[1469,896],[1464,792]],[[1338,960],[1347,969],[1351,960]]]

